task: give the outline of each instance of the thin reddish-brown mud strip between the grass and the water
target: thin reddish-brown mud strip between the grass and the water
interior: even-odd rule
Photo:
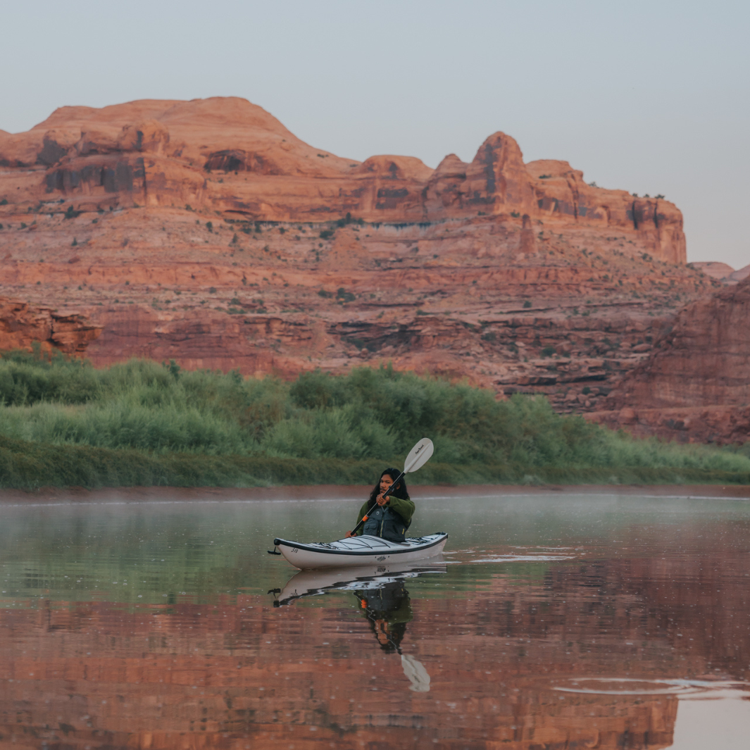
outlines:
[[[0,490],[0,503],[139,503],[139,502],[284,502],[285,500],[360,499],[371,487],[366,484],[314,484],[285,487],[84,487],[39,490]],[[483,495],[618,495],[694,498],[750,499],[750,485],[736,484],[422,484],[410,488],[413,499],[477,497]]]

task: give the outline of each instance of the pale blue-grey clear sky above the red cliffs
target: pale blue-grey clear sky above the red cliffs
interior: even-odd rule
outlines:
[[[471,160],[490,133],[664,193],[688,260],[750,263],[750,3],[37,0],[0,8],[0,128],[241,96],[344,157]]]

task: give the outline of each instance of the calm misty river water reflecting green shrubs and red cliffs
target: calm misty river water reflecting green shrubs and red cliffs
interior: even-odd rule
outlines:
[[[750,502],[423,497],[429,564],[266,553],[360,500],[0,505],[0,747],[750,746]]]

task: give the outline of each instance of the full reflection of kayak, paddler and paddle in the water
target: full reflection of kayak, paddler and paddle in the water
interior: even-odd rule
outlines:
[[[410,690],[428,692],[430,675],[425,665],[410,654],[401,652],[401,641],[412,621],[411,598],[405,581],[422,575],[445,573],[446,565],[380,565],[377,568],[341,568],[338,570],[301,571],[287,581],[278,594],[275,607],[290,604],[306,596],[319,596],[334,591],[351,591],[359,611],[368,620],[380,648],[398,653]]]

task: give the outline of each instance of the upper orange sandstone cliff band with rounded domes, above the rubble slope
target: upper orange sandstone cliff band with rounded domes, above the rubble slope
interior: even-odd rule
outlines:
[[[663,199],[587,185],[564,161],[525,165],[511,136],[493,133],[471,163],[433,170],[419,159],[363,163],[321,152],[248,101],[136,101],[62,107],[17,135],[0,134],[0,195],[72,201],[92,210],[151,205],[248,220],[310,221],[347,212],[377,222],[479,215],[625,229],[655,257],[685,262],[682,214]]]

